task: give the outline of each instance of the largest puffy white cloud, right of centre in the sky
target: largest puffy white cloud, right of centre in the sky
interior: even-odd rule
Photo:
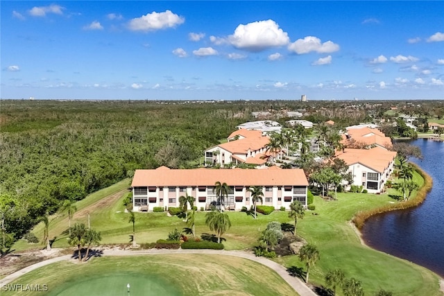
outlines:
[[[255,21],[250,24],[240,24],[234,34],[228,36],[228,41],[238,49],[246,51],[263,51],[273,46],[283,46],[290,42],[287,32],[284,32],[272,19]]]

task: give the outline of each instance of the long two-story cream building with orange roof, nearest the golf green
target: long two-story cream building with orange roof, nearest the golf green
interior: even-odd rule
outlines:
[[[253,205],[248,191],[250,186],[262,186],[263,204],[277,209],[289,209],[293,200],[307,206],[308,181],[302,169],[284,170],[276,166],[264,169],[170,169],[161,166],[154,170],[135,171],[131,184],[133,210],[178,207],[182,195],[194,197],[198,209],[208,209],[212,204],[220,204],[214,193],[216,182],[228,184],[230,191],[223,204],[230,209],[241,210]]]

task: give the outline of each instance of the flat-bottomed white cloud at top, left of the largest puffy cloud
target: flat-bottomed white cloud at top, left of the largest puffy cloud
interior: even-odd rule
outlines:
[[[174,28],[185,22],[185,17],[180,17],[171,10],[164,12],[151,12],[142,17],[136,17],[128,22],[131,31],[155,31],[163,28]]]

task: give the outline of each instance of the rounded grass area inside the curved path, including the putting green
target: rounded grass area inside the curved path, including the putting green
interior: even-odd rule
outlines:
[[[264,265],[205,254],[107,256],[80,264],[64,261],[34,270],[11,284],[46,284],[48,291],[1,295],[126,295],[126,284],[131,295],[296,295]]]

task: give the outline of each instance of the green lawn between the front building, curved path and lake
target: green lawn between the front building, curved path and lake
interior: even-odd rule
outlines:
[[[415,173],[413,180],[423,184],[422,177]],[[394,180],[395,181],[395,180]],[[113,192],[120,191],[128,186],[128,181],[114,188]],[[110,189],[110,191],[112,191]],[[100,192],[100,191],[99,191]],[[128,243],[133,227],[128,223],[128,214],[124,213],[122,200],[128,193],[121,192],[118,200],[112,204],[97,208],[89,213],[91,227],[102,234],[102,243]],[[315,197],[316,213],[306,212],[305,218],[298,221],[298,234],[310,243],[314,243],[320,253],[321,260],[310,272],[310,282],[323,286],[326,272],[334,268],[341,268],[346,277],[355,277],[362,282],[366,295],[374,294],[380,288],[391,290],[395,295],[441,295],[438,290],[438,277],[425,268],[409,263],[388,254],[378,252],[361,245],[359,236],[350,226],[349,221],[361,210],[373,209],[387,203],[397,202],[395,195],[400,193],[389,189],[382,195],[364,193],[338,193],[337,200],[325,201]],[[89,197],[90,198],[90,197]],[[92,202],[85,202],[92,204]],[[80,211],[81,207],[79,207]],[[174,228],[182,230],[186,223],[176,216],[168,217],[166,213],[136,213],[136,241],[137,243],[151,243],[159,238],[167,238],[167,234]],[[229,212],[232,222],[231,229],[223,238],[225,249],[242,250],[255,245],[259,234],[266,224],[277,220],[280,223],[293,223],[285,211],[274,211],[271,215],[259,214],[257,220],[247,216],[244,212]],[[87,216],[75,216],[78,222],[87,223]],[[51,221],[50,236],[58,239],[53,247],[67,247],[67,236],[61,234],[67,229],[66,217],[58,217]],[[42,236],[42,227],[36,227],[35,233]],[[196,234],[212,233],[205,226],[205,212],[196,213]],[[30,245],[21,241],[16,244],[24,250]],[[278,263],[291,268],[304,267],[297,256],[284,256],[275,259]],[[304,267],[305,268],[305,267]],[[339,291],[338,295],[341,295]]]

